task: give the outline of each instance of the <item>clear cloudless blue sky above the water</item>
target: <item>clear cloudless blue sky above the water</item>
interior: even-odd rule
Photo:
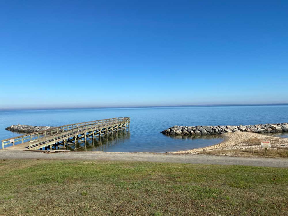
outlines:
[[[0,108],[288,103],[288,1],[1,1]]]

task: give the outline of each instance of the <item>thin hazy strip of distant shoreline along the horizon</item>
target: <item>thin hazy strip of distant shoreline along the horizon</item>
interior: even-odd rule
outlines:
[[[67,107],[67,108],[14,108],[0,111],[32,111],[32,110],[71,110],[71,109],[133,109],[133,108],[169,108],[169,107],[237,107],[237,106],[281,106],[288,103],[259,103],[259,104],[203,104],[203,105],[164,105],[164,106],[132,106],[132,107]]]

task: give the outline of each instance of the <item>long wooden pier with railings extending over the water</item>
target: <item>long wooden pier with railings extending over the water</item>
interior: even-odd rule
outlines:
[[[78,140],[86,141],[87,137],[101,136],[107,133],[117,132],[120,129],[129,128],[130,118],[110,118],[92,122],[82,122],[42,130],[22,136],[2,140],[2,149],[46,149],[52,150],[58,145],[67,149],[68,145],[74,145],[77,150]],[[5,147],[5,145],[12,145]]]

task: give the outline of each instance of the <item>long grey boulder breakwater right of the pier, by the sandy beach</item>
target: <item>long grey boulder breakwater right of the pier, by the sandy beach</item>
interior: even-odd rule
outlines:
[[[251,133],[272,133],[287,132],[288,123],[279,124],[255,124],[255,125],[218,125],[218,126],[173,126],[163,130],[163,134],[169,135],[208,135],[208,134],[224,134],[233,132],[251,132]]]

